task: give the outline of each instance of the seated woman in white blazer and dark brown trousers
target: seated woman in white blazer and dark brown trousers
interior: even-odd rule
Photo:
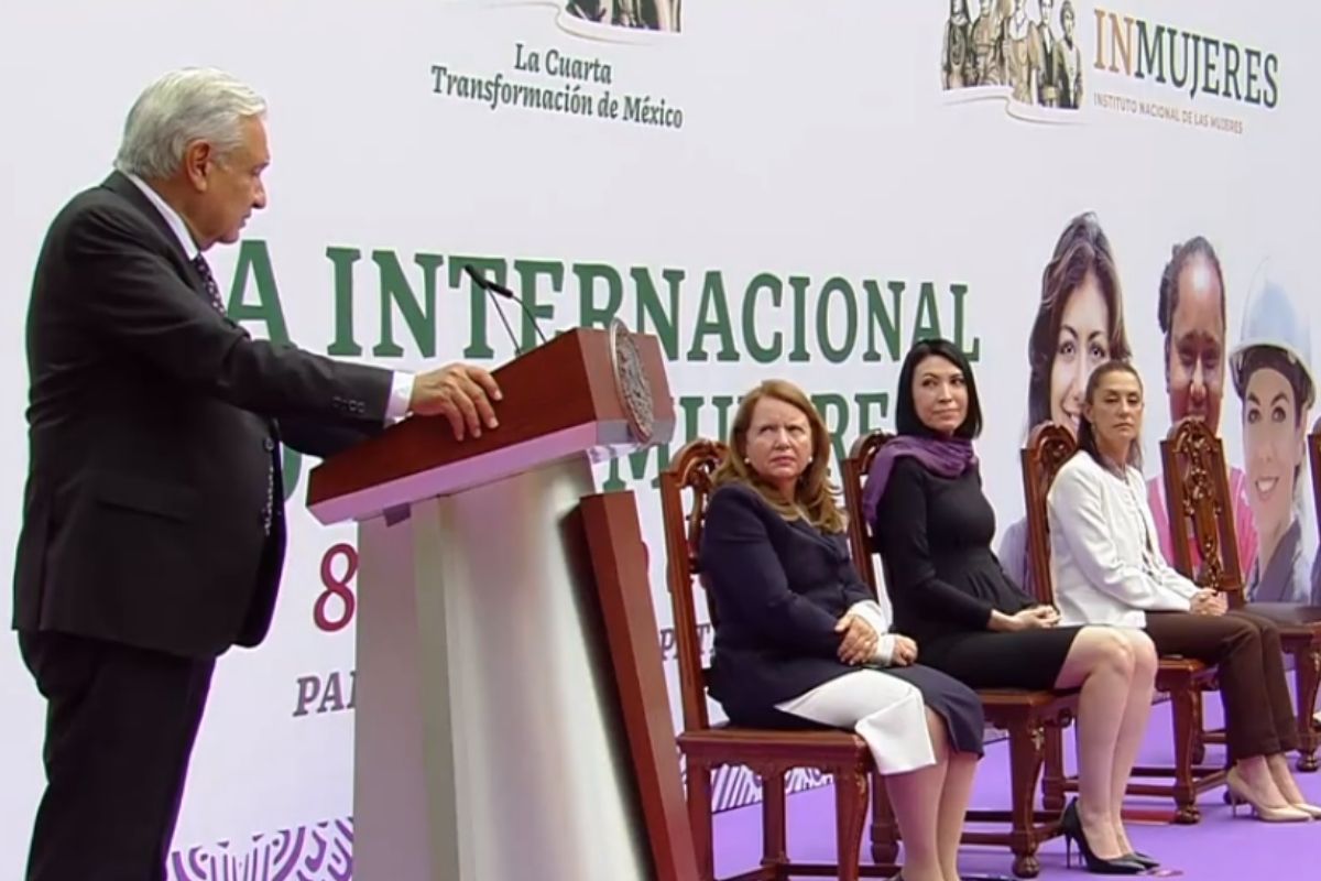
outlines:
[[[1048,497],[1061,623],[1145,626],[1160,654],[1218,664],[1235,800],[1263,820],[1321,816],[1284,756],[1299,736],[1280,634],[1264,618],[1227,612],[1223,594],[1165,563],[1139,470],[1141,420],[1137,371],[1122,361],[1098,367],[1087,382],[1078,453]]]

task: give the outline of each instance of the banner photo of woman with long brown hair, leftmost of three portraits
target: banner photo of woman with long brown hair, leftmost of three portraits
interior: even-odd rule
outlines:
[[[1041,304],[1028,338],[1028,431],[1050,420],[1075,436],[1091,372],[1128,361],[1123,291],[1110,239],[1091,211],[1069,221],[1041,273]],[[1000,564],[1032,590],[1028,522],[1012,523],[1000,540]]]

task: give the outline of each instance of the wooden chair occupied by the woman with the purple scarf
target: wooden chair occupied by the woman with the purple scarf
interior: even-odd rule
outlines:
[[[848,540],[863,580],[873,593],[880,592],[876,565],[872,561],[872,540],[867,518],[863,516],[863,486],[872,469],[876,453],[889,440],[885,432],[872,432],[860,437],[844,460],[844,499],[848,505]],[[1008,831],[964,831],[964,844],[991,844],[1008,847],[1013,852],[1013,873],[1020,878],[1034,878],[1041,872],[1037,848],[1059,835],[1059,808],[1036,810],[1037,779],[1045,758],[1048,730],[1058,729],[1073,720],[1078,708],[1075,691],[1025,691],[992,688],[978,692],[985,709],[987,722],[1009,736],[1009,810],[968,811],[971,823],[1009,824]],[[877,835],[873,828],[873,848]],[[897,832],[896,832],[897,833]]]

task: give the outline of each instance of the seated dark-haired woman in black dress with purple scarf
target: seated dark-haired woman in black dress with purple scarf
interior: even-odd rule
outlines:
[[[863,498],[885,564],[894,623],[923,663],[974,688],[1081,688],[1078,802],[1065,833],[1089,869],[1136,874],[1120,820],[1151,715],[1152,641],[1133,627],[1059,627],[1059,613],[1009,580],[995,555],[995,512],[982,493],[972,439],[982,409],[954,343],[917,343],[896,395],[898,437],[881,448]],[[1090,847],[1089,847],[1090,845]]]

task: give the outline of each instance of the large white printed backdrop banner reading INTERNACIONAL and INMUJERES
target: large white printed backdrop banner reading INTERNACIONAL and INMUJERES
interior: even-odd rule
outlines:
[[[497,366],[538,328],[613,317],[659,338],[678,437],[598,479],[637,494],[675,709],[659,469],[768,376],[812,392],[841,454],[892,424],[898,363],[933,334],[978,371],[1011,571],[1029,427],[1077,420],[1089,372],[1122,357],[1147,384],[1153,506],[1156,441],[1202,415],[1230,452],[1251,597],[1318,601],[1318,24],[1312,4],[1230,0],[9,4],[0,536],[18,530],[45,227],[108,172],[147,82],[214,65],[271,102],[271,205],[211,260],[254,334],[400,370]],[[522,296],[513,339],[466,265]],[[358,561],[353,528],[303,507],[309,466],[287,456],[271,635],[218,668],[176,881],[351,876]],[[0,699],[0,877],[20,877],[44,720],[12,639]],[[723,807],[758,796],[746,775],[717,786]]]

